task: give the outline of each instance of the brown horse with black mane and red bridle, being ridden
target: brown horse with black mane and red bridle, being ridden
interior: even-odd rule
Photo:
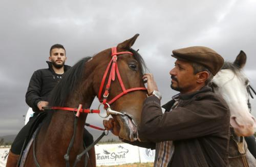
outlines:
[[[77,108],[79,104],[82,104],[82,108],[90,108],[95,96],[99,94],[98,98],[101,99],[104,95],[102,101],[109,114],[125,113],[121,118],[127,121],[127,127],[123,126],[122,137],[136,140],[137,132],[130,128],[135,126],[133,124],[140,120],[140,116],[133,118],[130,116],[137,112],[140,113],[143,100],[146,98],[146,91],[141,91],[145,89],[142,80],[144,62],[139,53],[131,48],[137,37],[138,34],[117,45],[117,50],[114,49],[114,51],[118,55],[118,60],[116,60],[117,56],[114,58],[113,49],[106,49],[92,58],[84,58],[75,64],[52,91],[49,105]],[[110,60],[113,60],[112,63]],[[111,72],[106,70],[108,64],[112,66]],[[106,76],[104,71],[106,71]],[[114,71],[116,74],[114,73],[113,76]],[[110,74],[110,79],[103,79],[102,82],[102,78],[108,78]],[[113,98],[115,100],[112,100]],[[111,109],[108,107],[109,101],[111,101]],[[25,166],[73,166],[76,156],[83,151],[82,135],[87,113],[80,113],[77,126],[74,128],[74,112],[65,109],[47,112],[47,118],[42,122],[36,140],[29,150]],[[129,128],[128,125],[132,127]],[[75,134],[73,146],[70,149],[67,163],[63,156],[67,153],[73,133]],[[33,147],[35,152],[33,152]],[[84,158],[83,156],[77,162],[77,166],[84,166]],[[87,166],[96,166],[95,159],[90,158]]]

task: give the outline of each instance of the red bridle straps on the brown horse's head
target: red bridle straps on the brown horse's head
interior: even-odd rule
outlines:
[[[143,90],[143,91],[147,90],[146,88],[142,88],[142,87],[141,88],[131,88],[131,89],[127,89],[127,90],[125,89],[125,87],[123,85],[122,78],[121,78],[119,70],[118,70],[118,66],[117,66],[117,56],[120,55],[120,54],[124,54],[124,53],[128,53],[128,54],[132,54],[133,55],[133,53],[130,52],[130,51],[117,52],[117,48],[116,47],[112,47],[111,50],[112,50],[112,53],[111,53],[112,59],[111,59],[109,65],[106,67],[105,73],[104,73],[102,81],[101,81],[99,93],[98,93],[98,99],[100,101],[101,100],[102,89],[103,89],[103,86],[104,86],[104,83],[105,83],[105,79],[106,79],[106,75],[108,74],[108,72],[110,70],[110,66],[112,65],[111,71],[110,71],[110,75],[109,75],[109,80],[108,80],[108,83],[106,84],[105,92],[103,94],[103,102],[102,103],[104,105],[106,104],[106,99],[109,96],[111,80],[113,80],[113,81],[115,80],[115,74],[118,77],[118,80],[119,80],[119,83],[120,83],[120,86],[121,86],[123,92],[120,93],[119,95],[117,95],[116,97],[114,97],[112,100],[110,100],[108,102],[108,104],[112,104],[114,101],[116,101],[121,96],[127,94],[128,92],[138,91],[138,90]]]

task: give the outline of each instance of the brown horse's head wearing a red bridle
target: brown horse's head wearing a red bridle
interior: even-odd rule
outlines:
[[[110,104],[110,113],[114,110],[123,114],[112,117],[120,125],[119,136],[129,141],[138,138],[137,125],[146,98],[142,80],[144,62],[131,48],[138,36],[99,52],[90,61],[95,64],[92,71],[94,91],[105,107]]]

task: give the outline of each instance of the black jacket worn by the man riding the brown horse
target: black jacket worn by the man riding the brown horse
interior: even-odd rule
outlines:
[[[52,68],[52,63],[47,61],[49,68],[40,69],[33,73],[28,91],[26,93],[26,103],[33,109],[34,112],[39,112],[37,103],[39,101],[48,101],[50,92],[58,84],[59,79]],[[71,67],[64,65],[64,72]],[[37,115],[37,114],[34,114]]]

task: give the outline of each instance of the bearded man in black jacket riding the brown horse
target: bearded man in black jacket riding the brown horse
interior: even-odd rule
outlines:
[[[20,152],[22,151],[23,144],[33,120],[44,110],[43,107],[49,104],[50,92],[61,80],[62,75],[71,68],[65,65],[66,60],[65,48],[60,44],[55,44],[50,48],[49,62],[47,61],[49,68],[39,69],[33,73],[26,93],[26,103],[35,113],[17,134],[9,152],[7,166],[17,165]],[[93,143],[93,136],[86,129],[84,129],[84,141],[86,141],[87,146]],[[95,156],[94,149],[90,151],[93,152]]]

